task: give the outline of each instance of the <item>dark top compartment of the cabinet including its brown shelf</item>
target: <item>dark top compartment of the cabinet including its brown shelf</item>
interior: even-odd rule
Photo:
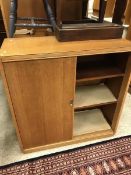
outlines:
[[[104,54],[78,57],[77,59],[77,83],[87,80],[112,78],[124,76],[127,53]],[[119,63],[121,58],[122,63]]]

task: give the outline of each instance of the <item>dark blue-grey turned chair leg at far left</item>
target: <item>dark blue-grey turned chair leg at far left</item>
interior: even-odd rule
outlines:
[[[17,0],[11,0],[9,18],[10,18],[9,37],[12,38],[16,30],[15,23],[17,21]]]

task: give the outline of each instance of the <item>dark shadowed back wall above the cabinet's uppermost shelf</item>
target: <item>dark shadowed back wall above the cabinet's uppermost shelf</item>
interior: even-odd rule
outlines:
[[[129,53],[110,53],[110,54],[100,54],[100,55],[90,55],[90,56],[80,56],[77,60],[77,69],[82,68],[91,69],[94,68],[104,68],[116,66],[121,72],[125,72],[126,63],[129,57]]]

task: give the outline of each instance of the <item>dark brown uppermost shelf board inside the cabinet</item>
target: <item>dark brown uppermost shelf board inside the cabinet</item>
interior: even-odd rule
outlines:
[[[99,67],[89,65],[88,67],[84,66],[78,69],[76,76],[77,83],[79,83],[86,80],[124,76],[124,73],[119,68],[112,65],[101,65]]]

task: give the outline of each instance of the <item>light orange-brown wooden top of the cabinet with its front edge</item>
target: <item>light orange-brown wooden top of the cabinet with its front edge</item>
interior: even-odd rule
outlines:
[[[0,56],[2,61],[94,55],[113,52],[130,52],[131,42],[125,39],[58,42],[55,37],[5,39]],[[13,56],[13,58],[12,58]]]

